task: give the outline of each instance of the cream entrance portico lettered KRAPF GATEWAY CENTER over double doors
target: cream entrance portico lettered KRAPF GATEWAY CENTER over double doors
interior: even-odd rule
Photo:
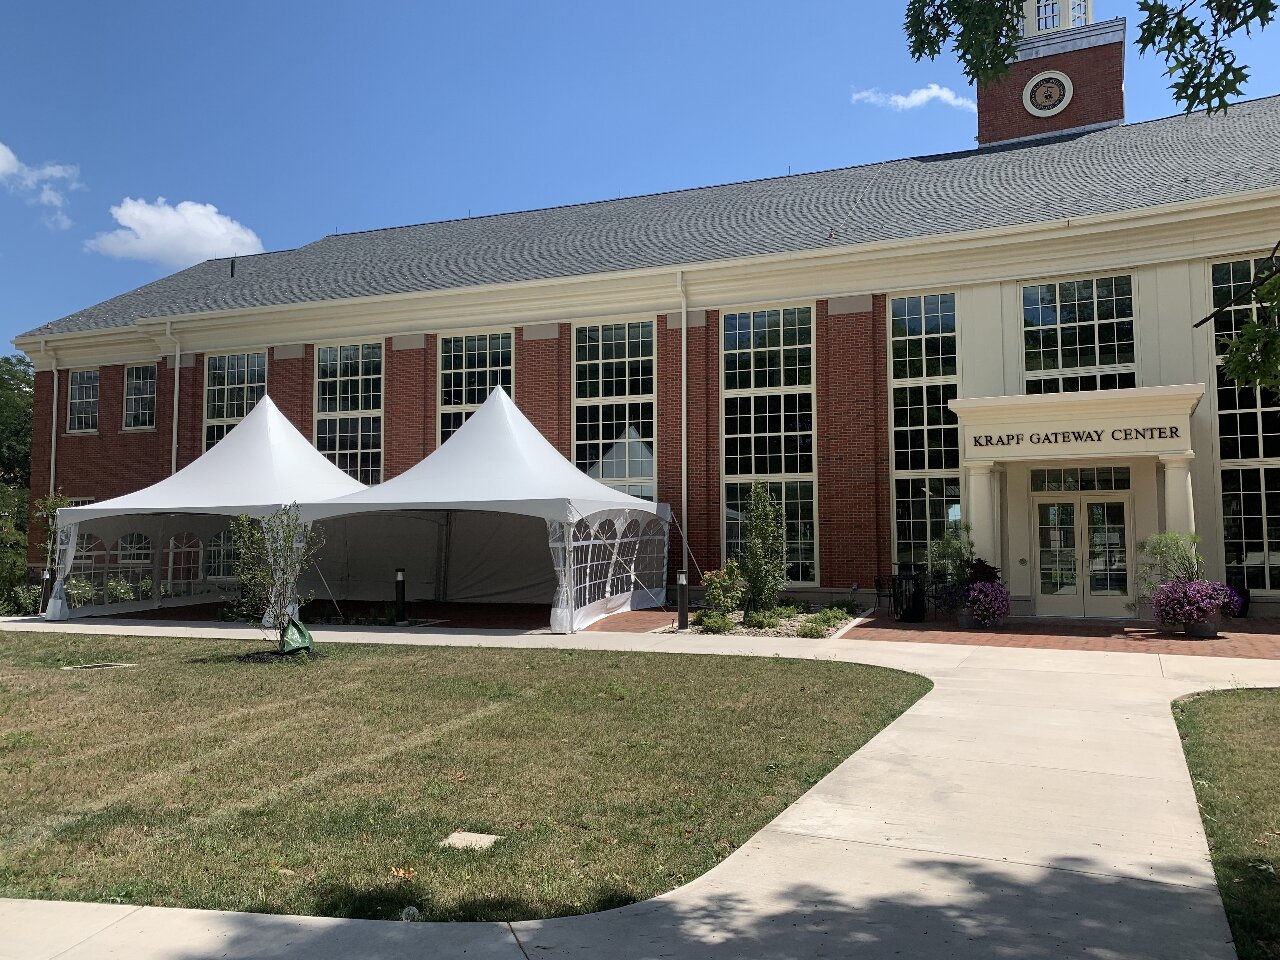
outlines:
[[[1134,554],[1193,532],[1190,417],[1202,384],[954,399],[965,518],[1018,613],[1125,617]]]

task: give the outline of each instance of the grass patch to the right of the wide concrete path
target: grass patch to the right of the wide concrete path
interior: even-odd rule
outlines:
[[[1240,960],[1280,957],[1280,690],[1174,705]]]

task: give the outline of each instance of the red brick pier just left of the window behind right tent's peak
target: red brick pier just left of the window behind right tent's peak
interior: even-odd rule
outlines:
[[[403,474],[435,449],[436,340],[422,347],[392,349],[383,365],[383,479]]]

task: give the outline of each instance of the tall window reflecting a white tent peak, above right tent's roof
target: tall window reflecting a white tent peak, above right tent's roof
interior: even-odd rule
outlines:
[[[653,321],[573,332],[573,462],[588,476],[652,500]]]

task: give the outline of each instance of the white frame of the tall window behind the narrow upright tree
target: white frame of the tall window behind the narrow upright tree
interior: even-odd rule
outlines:
[[[794,385],[794,387],[742,387],[727,389],[724,385],[726,365],[724,365],[724,317],[728,314],[754,314],[759,311],[768,310],[794,310],[794,308],[808,308],[809,323],[810,323],[810,337],[809,343],[809,384],[808,385]],[[718,406],[716,410],[717,428],[719,433],[719,475],[721,475],[721,509],[719,509],[719,536],[721,536],[721,562],[728,559],[728,485],[730,484],[746,484],[751,485],[755,480],[760,480],[767,484],[772,483],[809,483],[813,484],[813,581],[808,580],[787,580],[787,586],[792,589],[806,589],[806,588],[819,588],[822,585],[822,525],[819,517],[822,513],[822,490],[818,480],[818,457],[820,445],[820,430],[818,429],[819,422],[819,410],[818,410],[818,352],[820,344],[818,343],[818,302],[815,300],[810,301],[783,301],[774,303],[740,303],[736,306],[721,307],[717,317],[717,339],[716,339],[716,379],[718,385]],[[786,367],[782,367],[783,370]],[[754,364],[753,364],[753,379],[754,379]],[[783,397],[787,394],[808,393],[810,396],[810,410],[813,411],[813,471],[812,472],[781,472],[781,474],[736,474],[730,476],[726,471],[726,440],[728,436],[724,429],[724,407],[726,401],[741,397]],[[754,435],[754,434],[753,434]],[[786,504],[780,504],[786,511]],[[785,518],[785,517],[783,517]]]

